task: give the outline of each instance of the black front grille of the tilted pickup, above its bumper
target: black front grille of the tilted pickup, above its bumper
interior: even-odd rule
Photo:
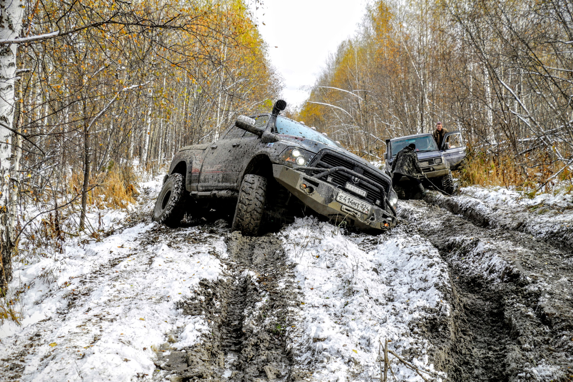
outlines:
[[[386,194],[389,191],[390,183],[382,175],[376,174],[371,171],[368,166],[362,163],[356,162],[347,156],[340,155],[339,153],[332,152],[330,150],[323,150],[319,152],[308,167],[319,167],[319,168],[332,168],[332,167],[346,167],[348,170],[358,172],[358,174],[364,175],[366,178],[372,180],[373,182],[379,183],[384,187]],[[308,175],[320,174],[320,170],[307,171]],[[324,179],[326,178],[326,179]],[[384,195],[380,192],[378,187],[374,187],[371,184],[364,182],[364,180],[359,180],[358,183],[352,182],[352,176],[346,174],[345,172],[333,172],[332,174],[325,176],[323,179],[325,182],[335,185],[337,188],[349,192],[350,194],[358,196],[358,198],[367,200],[367,202],[376,204],[378,200],[379,205],[382,205],[384,200]],[[355,194],[354,192],[347,190],[344,186],[347,182],[354,184],[354,186],[367,192],[366,197]]]

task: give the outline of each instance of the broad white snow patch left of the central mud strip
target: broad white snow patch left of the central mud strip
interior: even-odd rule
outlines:
[[[125,217],[108,211],[101,221],[117,229]],[[129,381],[151,376],[159,352],[209,333],[204,316],[183,316],[178,303],[199,281],[221,277],[223,235],[191,227],[169,241],[160,230],[140,223],[98,242],[71,239],[62,253],[34,263],[15,262],[10,290],[25,291],[22,320],[0,325],[0,359],[7,360],[0,373],[21,359],[26,381]]]

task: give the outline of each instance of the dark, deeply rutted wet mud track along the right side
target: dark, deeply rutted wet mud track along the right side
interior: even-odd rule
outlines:
[[[399,214],[449,264],[452,290],[444,292],[453,314],[436,323],[445,330],[427,331],[438,368],[453,381],[573,378],[570,249],[485,229],[475,216],[472,222],[423,200],[403,203]]]

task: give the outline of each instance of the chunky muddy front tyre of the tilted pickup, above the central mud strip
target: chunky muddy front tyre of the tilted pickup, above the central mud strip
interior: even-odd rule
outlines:
[[[233,217],[233,231],[256,236],[261,227],[266,203],[266,178],[247,174],[241,183],[237,208]]]

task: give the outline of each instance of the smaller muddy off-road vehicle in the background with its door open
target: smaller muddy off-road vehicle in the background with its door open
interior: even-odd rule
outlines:
[[[388,176],[391,175],[392,162],[394,162],[398,151],[411,143],[416,145],[415,152],[423,172],[420,179],[424,187],[434,188],[449,195],[453,194],[452,171],[460,168],[466,157],[466,146],[462,140],[461,132],[446,133],[442,147],[438,147],[430,133],[387,139],[384,162],[386,162],[385,171]],[[407,178],[404,176],[402,180],[407,180]],[[401,199],[410,199],[411,195],[407,195],[399,183],[396,191]]]

